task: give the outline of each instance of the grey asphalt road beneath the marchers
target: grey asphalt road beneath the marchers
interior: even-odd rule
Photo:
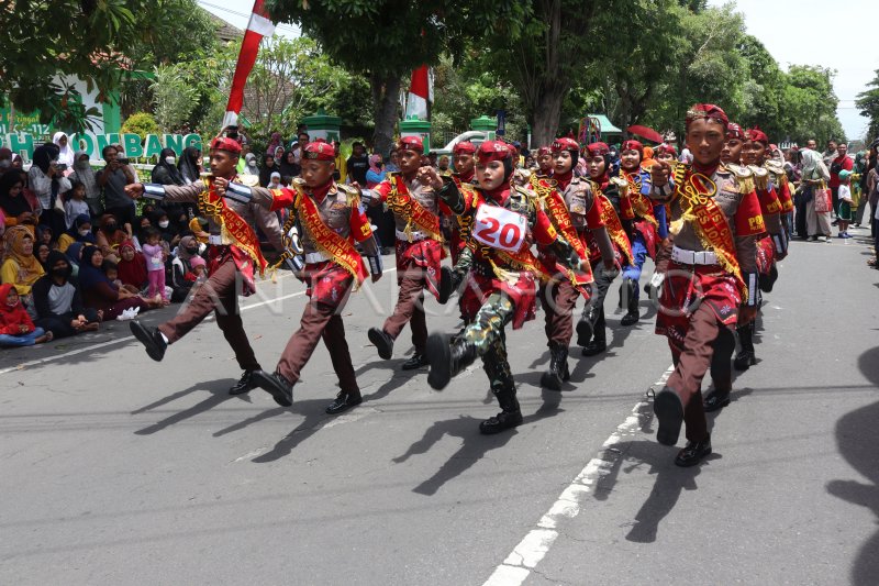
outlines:
[[[212,322],[160,364],[125,323],[4,351],[0,583],[877,584],[867,253],[861,239],[792,245],[760,363],[690,469],[655,441],[647,394],[670,357],[647,301],[632,329],[609,313],[610,352],[575,352],[563,392],[539,388],[542,314],[511,332],[525,423],[497,436],[477,430],[497,412],[478,368],[432,391],[426,371],[399,369],[408,331],[377,358],[366,331],[392,306],[392,273],[346,309],[366,400],[336,418],[323,346],[281,409],[260,390],[226,394],[241,373]],[[286,276],[260,291],[244,320],[271,368],[303,287]],[[453,309],[427,307],[431,329],[455,327]]]

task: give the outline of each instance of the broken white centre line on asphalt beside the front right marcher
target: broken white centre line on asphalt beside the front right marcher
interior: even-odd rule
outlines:
[[[669,366],[659,380],[654,383],[652,390],[661,389],[674,372],[675,367]],[[483,586],[519,586],[527,579],[558,538],[558,526],[566,519],[574,519],[579,515],[582,500],[592,494],[601,477],[609,474],[623,456],[614,445],[641,431],[644,423],[649,420],[652,417],[649,406],[648,401],[635,405],[632,414],[616,427],[616,431],[611,433],[601,446],[601,452],[590,460],[580,474],[561,491],[558,499],[537,522],[537,527],[528,531],[513,548]]]

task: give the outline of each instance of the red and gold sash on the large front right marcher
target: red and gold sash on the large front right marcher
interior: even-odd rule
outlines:
[[[726,214],[714,201],[717,185],[701,173],[693,173],[690,165],[678,165],[675,170],[672,199],[678,199],[680,203],[681,218],[672,222],[672,233],[680,231],[682,222],[689,222],[702,246],[717,255],[720,265],[735,278],[742,298],[747,299],[748,288],[736,258],[733,231]]]

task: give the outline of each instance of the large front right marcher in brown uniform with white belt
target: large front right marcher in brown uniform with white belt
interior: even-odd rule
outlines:
[[[711,453],[701,383],[715,356],[728,369],[732,328],[756,314],[756,236],[765,231],[757,195],[746,180],[721,165],[728,119],[719,107],[697,104],[687,113],[692,165],[657,163],[652,198],[671,204],[674,248],[661,281],[656,333],[668,338],[675,372],[656,395],[657,440],[678,441],[687,423],[687,446],[675,463],[692,466]],[[741,307],[739,307],[741,306]],[[723,365],[717,365],[719,367]],[[724,389],[728,399],[730,389]],[[720,398],[722,399],[722,397]]]

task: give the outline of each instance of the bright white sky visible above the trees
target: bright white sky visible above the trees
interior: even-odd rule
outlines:
[[[727,2],[710,0],[709,3]],[[782,68],[821,65],[836,69],[833,84],[839,99],[836,113],[848,140],[860,139],[869,121],[858,113],[855,98],[879,69],[879,52],[870,43],[879,35],[876,0],[736,0],[734,3],[745,15],[748,33],[763,42]],[[199,0],[199,4],[240,29],[247,26],[254,5],[253,0]],[[291,24],[282,24],[277,33],[296,36],[298,31]]]

